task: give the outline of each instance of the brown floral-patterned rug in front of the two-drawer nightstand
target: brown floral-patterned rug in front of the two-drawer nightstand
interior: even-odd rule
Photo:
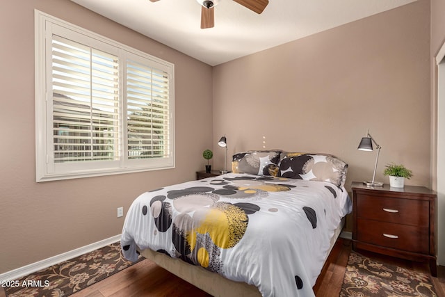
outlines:
[[[346,296],[437,296],[430,276],[351,252],[340,291]]]

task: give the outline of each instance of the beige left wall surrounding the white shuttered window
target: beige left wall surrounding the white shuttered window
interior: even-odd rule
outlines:
[[[35,182],[34,9],[175,64],[176,168]],[[0,2],[0,273],[120,234],[137,195],[195,178],[211,147],[211,66],[68,0]],[[193,75],[191,75],[193,74]]]

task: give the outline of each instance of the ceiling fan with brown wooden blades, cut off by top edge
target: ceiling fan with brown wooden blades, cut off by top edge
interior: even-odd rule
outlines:
[[[159,0],[150,0],[156,2]],[[197,0],[201,4],[201,29],[213,28],[215,26],[215,6],[220,0]],[[269,0],[233,0],[255,13],[262,13]]]

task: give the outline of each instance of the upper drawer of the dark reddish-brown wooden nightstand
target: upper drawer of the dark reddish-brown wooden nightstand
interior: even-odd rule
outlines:
[[[370,218],[385,222],[428,227],[430,204],[425,200],[380,198],[375,195],[359,195],[357,218]]]

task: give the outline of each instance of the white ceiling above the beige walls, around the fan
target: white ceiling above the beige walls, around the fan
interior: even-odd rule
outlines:
[[[220,0],[211,29],[197,0],[72,1],[213,66],[415,0],[269,0],[261,15]]]

